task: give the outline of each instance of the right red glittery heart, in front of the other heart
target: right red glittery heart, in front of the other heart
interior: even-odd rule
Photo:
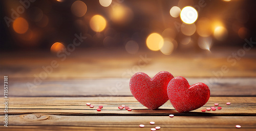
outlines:
[[[170,102],[178,112],[196,110],[210,98],[210,89],[204,83],[189,85],[186,78],[173,78],[167,87]]]

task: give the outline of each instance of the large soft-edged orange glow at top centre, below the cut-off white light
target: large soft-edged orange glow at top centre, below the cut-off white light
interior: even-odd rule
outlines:
[[[111,20],[119,24],[129,23],[133,18],[133,11],[125,6],[117,5],[111,12]]]

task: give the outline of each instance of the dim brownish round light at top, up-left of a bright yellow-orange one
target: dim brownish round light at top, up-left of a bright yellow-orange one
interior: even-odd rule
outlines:
[[[77,17],[82,17],[87,12],[87,6],[82,1],[75,1],[71,6],[71,12]]]

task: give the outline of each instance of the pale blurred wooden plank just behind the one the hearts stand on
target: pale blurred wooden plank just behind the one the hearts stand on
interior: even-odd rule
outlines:
[[[211,96],[256,96],[256,77],[249,78],[187,78],[190,85],[203,82],[209,86]],[[9,80],[10,96],[132,96],[130,78],[66,79],[42,81],[28,87],[29,80]],[[2,81],[1,81],[2,82]],[[3,82],[0,84],[3,87]],[[0,96],[4,94],[1,93]]]

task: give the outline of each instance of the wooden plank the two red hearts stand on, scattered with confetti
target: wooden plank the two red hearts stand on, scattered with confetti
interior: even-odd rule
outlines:
[[[4,101],[1,100],[1,103]],[[86,106],[90,102],[95,107]],[[202,109],[214,106],[218,102],[221,110],[201,112]],[[226,102],[231,102],[227,105]],[[125,104],[132,111],[120,110]],[[103,106],[100,112],[98,106]],[[0,109],[4,109],[4,104]],[[134,97],[10,97],[9,115],[16,114],[51,114],[51,115],[94,115],[94,116],[255,116],[256,97],[210,97],[201,108],[189,113],[178,113],[167,101],[159,110],[148,110]],[[0,115],[4,115],[0,112]]]

